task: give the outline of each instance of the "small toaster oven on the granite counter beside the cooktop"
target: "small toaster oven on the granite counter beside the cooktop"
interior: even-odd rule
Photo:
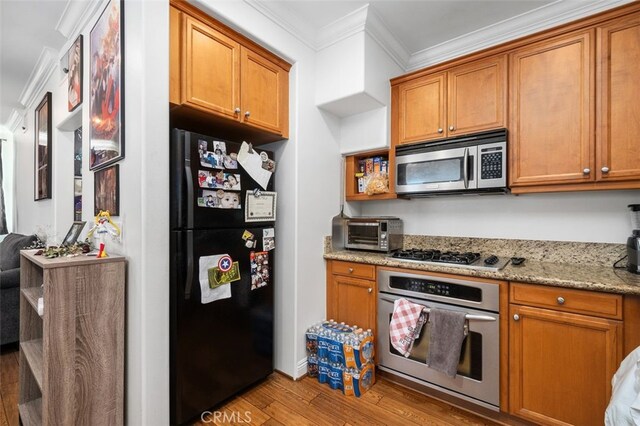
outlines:
[[[352,217],[346,222],[347,249],[388,253],[402,248],[403,227],[397,217]]]

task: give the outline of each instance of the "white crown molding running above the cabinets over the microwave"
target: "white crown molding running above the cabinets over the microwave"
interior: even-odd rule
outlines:
[[[555,1],[529,12],[505,19],[460,37],[429,47],[411,55],[407,71],[413,71],[515,40],[526,35],[575,21],[634,0],[601,0],[581,5],[579,2]]]

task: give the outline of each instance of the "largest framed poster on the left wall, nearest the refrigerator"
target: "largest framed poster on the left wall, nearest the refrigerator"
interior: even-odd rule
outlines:
[[[124,1],[111,0],[91,30],[89,169],[124,158]]]

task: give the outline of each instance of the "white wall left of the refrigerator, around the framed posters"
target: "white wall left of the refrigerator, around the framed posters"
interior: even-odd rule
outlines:
[[[102,11],[102,9],[100,9]],[[100,13],[98,12],[98,14]],[[88,166],[89,32],[84,35],[83,219],[93,219],[93,173]],[[75,39],[74,34],[70,39]],[[120,161],[121,243],[110,253],[127,256],[126,423],[167,424],[169,418],[169,5],[125,3],[125,159]],[[64,52],[60,52],[62,56]],[[33,201],[33,117],[15,133],[17,231],[44,228],[59,242],[73,221],[73,133],[55,129],[68,116],[66,77],[56,69],[44,92],[53,96],[53,199]],[[85,233],[88,227],[85,228]]]

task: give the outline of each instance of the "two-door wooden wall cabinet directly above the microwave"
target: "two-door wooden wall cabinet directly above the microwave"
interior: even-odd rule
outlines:
[[[392,102],[397,143],[504,127],[506,76],[506,56],[498,55],[392,87],[398,93],[395,108]]]

